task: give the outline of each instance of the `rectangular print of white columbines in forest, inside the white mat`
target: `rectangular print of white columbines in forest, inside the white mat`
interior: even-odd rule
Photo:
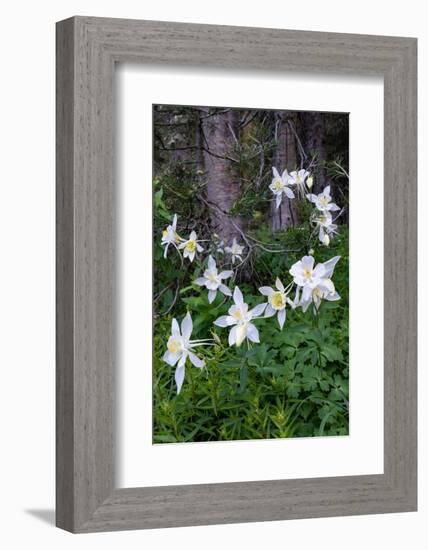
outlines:
[[[349,116],[153,105],[153,443],[349,433]]]

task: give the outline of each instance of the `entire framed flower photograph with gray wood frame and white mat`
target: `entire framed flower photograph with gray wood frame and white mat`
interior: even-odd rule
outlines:
[[[416,40],[57,24],[57,525],[414,511]]]

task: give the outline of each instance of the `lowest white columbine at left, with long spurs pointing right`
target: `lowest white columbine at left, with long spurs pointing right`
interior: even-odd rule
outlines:
[[[193,353],[193,348],[208,344],[209,340],[190,340],[192,330],[193,323],[190,313],[188,313],[181,322],[181,332],[177,320],[172,320],[171,336],[168,338],[167,351],[163,356],[163,360],[168,363],[168,365],[171,365],[171,367],[178,362],[177,368],[175,369],[177,394],[180,393],[181,386],[183,385],[187,358],[189,358],[192,365],[198,367],[198,369],[202,369],[205,366],[205,362]]]

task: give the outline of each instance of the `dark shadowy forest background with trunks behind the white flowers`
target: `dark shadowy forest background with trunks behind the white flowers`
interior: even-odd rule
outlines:
[[[310,171],[315,194],[330,185],[345,208],[338,223],[346,224],[348,120],[346,113],[154,105],[154,173],[191,194],[185,216],[195,227],[203,220],[226,242],[240,238],[236,226],[251,229],[261,216],[272,231],[305,216],[286,197],[275,208],[272,166]]]

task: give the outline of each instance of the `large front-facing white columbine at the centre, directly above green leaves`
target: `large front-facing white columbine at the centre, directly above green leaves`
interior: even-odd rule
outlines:
[[[266,304],[259,304],[248,311],[248,304],[244,302],[242,292],[237,286],[233,291],[233,300],[235,304],[229,308],[229,315],[222,315],[214,321],[214,324],[218,327],[232,327],[229,332],[229,346],[236,344],[238,347],[245,338],[259,343],[259,331],[251,321],[260,317]]]

